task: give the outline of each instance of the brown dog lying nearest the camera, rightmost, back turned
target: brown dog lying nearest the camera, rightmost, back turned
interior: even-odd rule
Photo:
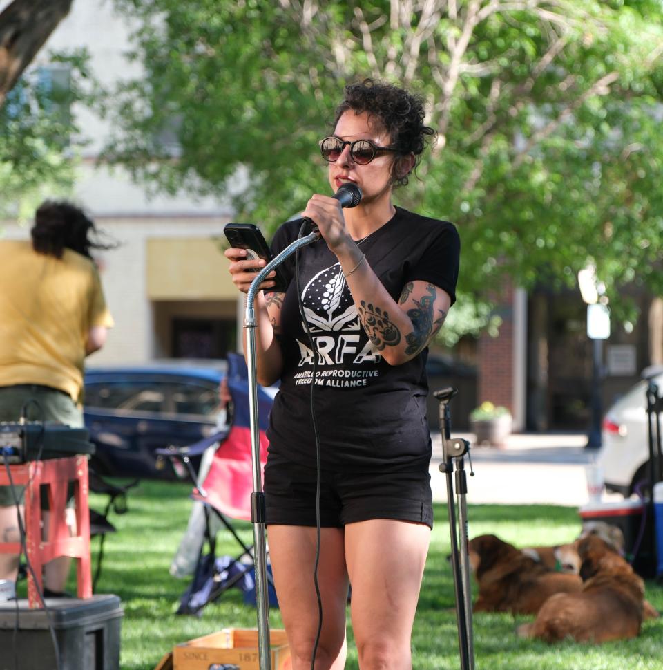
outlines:
[[[595,535],[579,541],[578,555],[582,561],[582,591],[550,596],[536,620],[519,626],[518,634],[546,642],[572,638],[598,643],[635,638],[644,618],[642,579]]]

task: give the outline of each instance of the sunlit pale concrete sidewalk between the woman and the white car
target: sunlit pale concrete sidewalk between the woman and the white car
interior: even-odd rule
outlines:
[[[544,504],[581,507],[588,503],[585,467],[595,461],[596,452],[585,449],[584,434],[515,434],[506,447],[475,446],[474,435],[453,433],[452,437],[470,440],[468,504],[500,505]],[[431,487],[436,502],[446,501],[446,479],[439,471],[442,440],[432,436]],[[455,484],[454,484],[455,487]],[[455,490],[455,488],[454,488]],[[619,494],[604,492],[604,501],[621,501]]]

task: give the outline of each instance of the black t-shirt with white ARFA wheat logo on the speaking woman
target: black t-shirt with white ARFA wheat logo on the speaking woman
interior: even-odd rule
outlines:
[[[275,254],[297,238],[301,223],[289,221],[278,229]],[[360,248],[394,300],[405,284],[420,280],[455,301],[460,241],[451,223],[396,207],[394,217]],[[314,407],[323,466],[421,467],[430,460],[427,349],[402,365],[385,362],[361,326],[340,263],[325,241],[298,253],[302,301],[318,351]],[[298,308],[294,254],[282,268],[290,283],[281,313],[284,367],[267,430],[269,452],[314,466],[313,355]]]

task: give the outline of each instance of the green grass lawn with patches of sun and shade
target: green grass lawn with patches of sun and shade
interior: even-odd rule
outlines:
[[[128,494],[127,514],[111,514],[117,533],[109,534],[104,549],[97,593],[119,595],[124,605],[122,670],[152,670],[178,642],[227,626],[256,627],[256,610],[244,605],[242,593],[231,589],[204,608],[202,617],[176,616],[175,609],[189,579],[169,574],[191,510],[191,487],[172,483],[141,483]],[[91,506],[104,508],[104,496],[91,496]],[[492,532],[518,546],[570,541],[579,532],[575,508],[554,505],[470,505],[470,537]],[[436,505],[436,525],[424,575],[412,638],[414,669],[459,667],[453,579],[449,552],[447,509]],[[236,523],[247,543],[253,539],[249,523]],[[218,555],[235,555],[236,544],[227,532],[219,534]],[[95,565],[98,539],[93,539]],[[75,589],[72,582],[71,588]],[[663,586],[646,584],[647,597],[663,611]],[[477,670],[660,670],[663,668],[663,620],[645,622],[636,640],[602,646],[565,643],[548,646],[520,640],[517,624],[530,617],[479,613],[474,617],[474,654]],[[280,628],[278,610],[270,624]],[[356,651],[348,617],[348,670],[357,670]]]

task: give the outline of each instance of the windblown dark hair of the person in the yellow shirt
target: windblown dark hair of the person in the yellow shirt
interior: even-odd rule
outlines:
[[[66,201],[47,200],[35,212],[32,226],[32,248],[39,254],[61,258],[64,248],[92,258],[91,249],[112,249],[115,243],[93,241],[98,234],[93,221],[80,207]]]

